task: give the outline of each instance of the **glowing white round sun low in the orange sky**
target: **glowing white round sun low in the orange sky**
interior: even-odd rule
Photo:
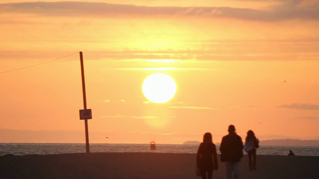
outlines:
[[[157,73],[144,80],[142,90],[145,97],[150,101],[163,103],[174,97],[176,84],[170,76]]]

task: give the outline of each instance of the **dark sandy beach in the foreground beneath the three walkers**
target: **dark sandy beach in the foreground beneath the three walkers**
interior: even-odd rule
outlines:
[[[319,157],[257,156],[257,171],[240,164],[241,179],[319,179]],[[0,156],[0,179],[200,179],[196,154],[78,153]],[[213,179],[225,179],[220,162]]]

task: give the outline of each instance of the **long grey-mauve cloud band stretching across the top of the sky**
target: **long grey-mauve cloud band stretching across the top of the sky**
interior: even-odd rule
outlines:
[[[280,2],[280,1],[279,1]],[[1,12],[21,12],[49,16],[204,16],[244,20],[319,19],[319,1],[288,0],[267,10],[234,7],[137,6],[98,2],[2,3]]]

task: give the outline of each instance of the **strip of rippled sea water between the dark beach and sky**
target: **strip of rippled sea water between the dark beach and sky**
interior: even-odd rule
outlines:
[[[217,145],[217,153],[219,146]],[[150,150],[150,144],[90,144],[90,152],[149,152],[196,154],[198,145],[156,144],[157,150]],[[260,146],[258,155],[288,155],[292,150],[298,156],[319,156],[319,147],[304,146]],[[0,156],[6,154],[67,154],[85,153],[85,144],[64,143],[0,143]],[[246,153],[245,153],[246,154]]]

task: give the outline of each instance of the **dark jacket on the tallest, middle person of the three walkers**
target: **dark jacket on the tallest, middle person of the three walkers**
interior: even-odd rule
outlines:
[[[220,153],[225,162],[240,162],[243,157],[243,141],[236,133],[224,136],[220,144]]]

